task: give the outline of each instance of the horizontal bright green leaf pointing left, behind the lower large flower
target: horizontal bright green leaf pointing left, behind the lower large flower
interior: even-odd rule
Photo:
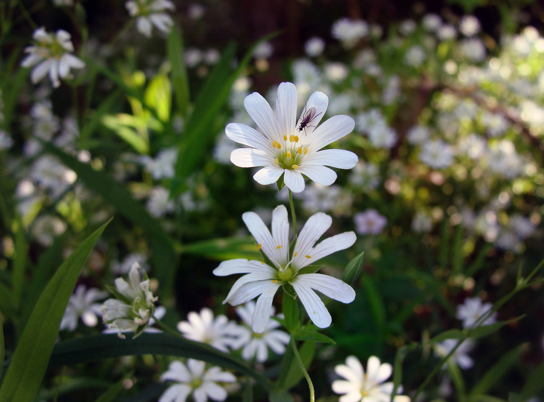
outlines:
[[[234,258],[261,259],[255,239],[252,237],[230,237],[212,240],[203,240],[183,244],[180,253],[197,254],[217,261]]]

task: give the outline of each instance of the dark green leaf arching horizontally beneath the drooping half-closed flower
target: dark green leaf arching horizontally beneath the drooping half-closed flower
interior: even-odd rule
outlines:
[[[92,335],[64,341],[55,345],[50,366],[86,363],[129,355],[165,355],[195,358],[249,375],[264,387],[270,381],[239,358],[209,345],[190,341],[169,333],[143,333],[138,338],[121,339],[115,334]]]

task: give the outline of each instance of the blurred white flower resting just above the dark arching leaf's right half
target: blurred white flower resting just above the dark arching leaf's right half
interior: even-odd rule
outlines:
[[[213,312],[205,307],[200,314],[191,311],[187,314],[187,321],[180,321],[177,329],[187,339],[212,345],[214,348],[228,352],[228,348],[238,336],[238,325],[229,321],[226,316],[220,315],[213,318]]]

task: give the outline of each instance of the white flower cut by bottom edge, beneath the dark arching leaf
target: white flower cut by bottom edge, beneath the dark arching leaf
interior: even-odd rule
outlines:
[[[170,363],[160,379],[176,384],[166,388],[158,402],[185,402],[191,393],[195,402],[206,402],[208,398],[221,402],[227,399],[227,391],[220,384],[235,382],[236,376],[218,366],[206,370],[205,362],[189,358],[187,366],[178,360]]]

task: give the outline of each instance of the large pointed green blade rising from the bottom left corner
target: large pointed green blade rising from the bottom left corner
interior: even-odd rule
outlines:
[[[66,305],[83,264],[109,224],[93,232],[60,265],[36,303],[0,387],[2,402],[30,402],[44,377]]]

